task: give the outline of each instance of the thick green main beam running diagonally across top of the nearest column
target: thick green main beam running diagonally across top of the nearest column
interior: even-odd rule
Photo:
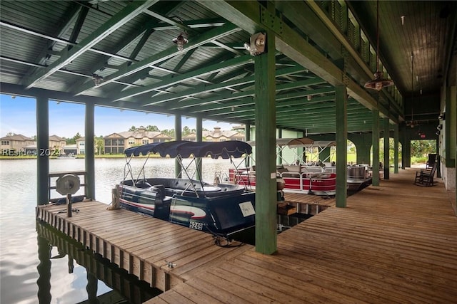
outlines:
[[[262,7],[257,1],[199,1],[199,3],[240,26],[248,33],[255,33],[265,26],[262,24],[259,14]],[[296,14],[301,13],[296,11]],[[387,115],[393,122],[398,122],[398,115],[391,115],[386,108],[379,106],[376,100],[358,83],[343,77],[343,71],[340,68],[286,23],[282,24],[281,32],[275,31],[274,27],[271,30],[276,34],[276,50],[308,68],[331,85],[346,85],[349,95],[366,108],[370,110],[379,108],[383,115]]]

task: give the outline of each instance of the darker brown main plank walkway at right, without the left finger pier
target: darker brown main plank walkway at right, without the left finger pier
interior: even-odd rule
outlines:
[[[279,234],[276,255],[248,250],[147,303],[457,303],[457,218],[414,172]]]

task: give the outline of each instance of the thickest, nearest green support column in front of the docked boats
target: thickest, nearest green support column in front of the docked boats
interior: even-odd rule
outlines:
[[[275,37],[266,33],[267,53],[254,61],[256,100],[256,251],[273,254],[276,243]]]

